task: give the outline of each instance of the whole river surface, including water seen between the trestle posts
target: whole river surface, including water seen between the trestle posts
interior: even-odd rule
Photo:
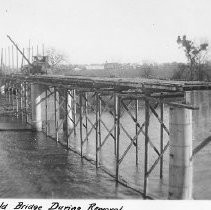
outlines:
[[[193,145],[211,136],[211,92],[194,91],[192,103],[199,106],[193,111]],[[133,111],[131,111],[133,113]],[[159,113],[159,109],[158,109]],[[134,114],[134,113],[133,113]],[[164,121],[169,124],[169,107],[164,108]],[[12,120],[13,119],[13,120]],[[90,113],[89,119],[94,122],[95,116]],[[1,117],[1,122],[6,118]],[[7,118],[8,120],[8,118]],[[102,120],[110,129],[113,117],[105,112]],[[139,109],[138,120],[144,122],[144,111]],[[15,118],[9,121],[14,123]],[[133,136],[135,125],[131,117],[125,112],[121,117],[121,124]],[[103,125],[101,125],[103,126]],[[89,125],[89,128],[91,125]],[[79,129],[79,128],[78,128]],[[151,115],[149,137],[159,147],[160,125]],[[78,130],[77,130],[78,132]],[[102,139],[107,135],[102,129]],[[168,135],[164,134],[164,143]],[[79,151],[79,139],[70,138],[71,147]],[[125,151],[130,140],[121,130],[120,156]],[[95,132],[89,136],[84,145],[84,155],[95,158]],[[211,199],[211,144],[199,151],[194,157],[193,198]],[[138,166],[135,162],[135,147],[125,156],[120,165],[120,177],[129,186],[143,190],[144,172],[144,136],[138,139]],[[148,180],[148,194],[158,199],[168,196],[168,150],[164,155],[163,179],[159,179],[159,165],[155,167]],[[156,153],[149,146],[149,165],[157,158]],[[115,173],[114,142],[111,137],[103,146],[100,153],[100,165],[111,174]],[[1,198],[108,198],[108,199],[142,199],[142,196],[132,189],[116,185],[114,178],[71,150],[66,150],[53,139],[41,132],[32,131],[1,131],[0,135],[0,197]]]

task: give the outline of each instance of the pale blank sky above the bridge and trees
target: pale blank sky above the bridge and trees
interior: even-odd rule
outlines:
[[[178,35],[211,44],[211,1],[0,0],[0,48],[11,45],[7,34],[74,64],[184,62]]]

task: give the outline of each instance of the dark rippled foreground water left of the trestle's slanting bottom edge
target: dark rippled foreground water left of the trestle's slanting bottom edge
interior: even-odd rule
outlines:
[[[1,198],[138,198],[42,133],[1,132]]]

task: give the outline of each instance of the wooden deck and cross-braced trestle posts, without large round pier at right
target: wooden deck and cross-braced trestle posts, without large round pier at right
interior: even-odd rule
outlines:
[[[38,124],[41,122],[46,135],[55,138],[67,148],[71,147],[70,139],[79,136],[81,157],[85,157],[86,142],[94,140],[96,167],[101,166],[102,148],[108,139],[112,139],[117,182],[121,181],[119,166],[132,147],[135,147],[134,162],[138,165],[140,157],[138,145],[140,141],[143,142],[142,134],[144,175],[143,189],[140,191],[145,197],[148,196],[148,178],[158,164],[158,176],[160,179],[163,178],[163,156],[169,147],[169,141],[164,143],[164,132],[170,135],[168,126],[164,124],[164,104],[170,107],[194,109],[191,104],[185,103],[184,92],[211,88],[211,84],[205,82],[49,75],[8,75],[2,79],[1,84],[5,85],[5,94],[8,101],[13,104],[14,112],[21,115],[25,122],[33,124],[34,128],[38,129],[40,126]],[[180,103],[170,102],[167,100],[169,97],[180,97],[184,100],[180,100]],[[139,106],[145,107],[143,123],[138,120]],[[94,120],[90,119],[89,112],[95,114]],[[112,126],[104,122],[102,115],[105,112],[113,118]],[[131,125],[135,128],[134,135],[131,135],[121,122],[123,112],[127,113],[134,123]],[[149,136],[151,115],[154,115],[160,123],[159,146],[156,146]],[[102,136],[102,129],[106,130],[106,136]],[[95,139],[90,139],[93,132]],[[120,153],[122,133],[129,141],[126,143],[126,149]],[[157,158],[150,164],[149,147],[157,154]]]

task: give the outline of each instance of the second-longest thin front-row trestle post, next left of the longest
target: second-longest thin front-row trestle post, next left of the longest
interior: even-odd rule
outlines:
[[[115,140],[116,140],[116,181],[119,180],[119,136],[120,136],[120,103],[121,98],[115,93]]]

